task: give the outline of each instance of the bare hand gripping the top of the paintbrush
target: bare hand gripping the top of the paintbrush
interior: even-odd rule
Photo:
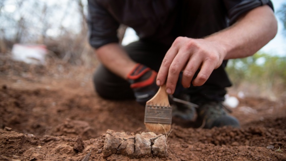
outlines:
[[[157,85],[166,82],[166,91],[173,94],[179,73],[183,71],[182,85],[185,88],[203,85],[214,69],[218,68],[225,57],[222,44],[206,39],[178,37],[166,53],[157,75]],[[192,81],[195,72],[200,69]],[[192,81],[192,82],[191,82]]]

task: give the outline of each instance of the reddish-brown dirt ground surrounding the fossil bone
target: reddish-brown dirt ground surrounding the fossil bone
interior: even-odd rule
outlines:
[[[80,161],[92,150],[89,160],[286,161],[285,98],[273,102],[256,97],[240,99],[233,109],[241,129],[198,129],[173,118],[167,158],[113,154],[103,159],[106,130],[145,131],[144,107],[98,97],[91,83],[93,70],[65,64],[30,66],[1,57],[0,160]],[[253,110],[246,112],[249,107]],[[266,148],[269,145],[273,147]]]

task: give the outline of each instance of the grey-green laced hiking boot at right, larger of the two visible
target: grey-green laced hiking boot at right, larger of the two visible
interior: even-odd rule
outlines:
[[[238,120],[227,114],[221,102],[209,102],[201,105],[197,110],[198,121],[202,122],[203,128],[211,129],[213,127],[232,126],[239,128]]]

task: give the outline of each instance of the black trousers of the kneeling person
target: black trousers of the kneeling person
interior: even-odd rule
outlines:
[[[130,58],[135,62],[144,64],[158,72],[162,60],[170,46],[153,42],[137,41],[130,43],[124,48]],[[224,70],[226,64],[227,61],[223,61],[223,64],[213,71],[209,79],[202,86],[183,88],[179,78],[174,97],[181,93],[188,94],[191,98],[191,102],[196,104],[202,104],[206,101],[223,101],[224,95],[226,94],[225,87],[231,86],[231,82]],[[132,89],[130,89],[129,83],[113,74],[102,64],[96,69],[93,82],[96,92],[103,98],[116,100],[134,99],[134,93]]]

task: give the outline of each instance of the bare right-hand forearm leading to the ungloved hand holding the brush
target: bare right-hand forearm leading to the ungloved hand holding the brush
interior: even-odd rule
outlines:
[[[254,25],[255,24],[255,25]],[[256,53],[277,33],[277,20],[268,5],[251,10],[231,27],[210,35],[225,52],[223,59],[248,57]]]

